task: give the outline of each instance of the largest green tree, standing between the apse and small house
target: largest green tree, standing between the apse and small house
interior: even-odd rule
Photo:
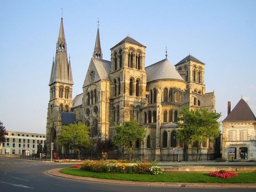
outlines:
[[[207,109],[183,108],[178,118],[176,137],[185,142],[186,145],[193,144],[196,147],[196,161],[198,160],[199,149],[203,141],[213,140],[220,134],[220,122],[218,119],[221,114],[209,112]]]

